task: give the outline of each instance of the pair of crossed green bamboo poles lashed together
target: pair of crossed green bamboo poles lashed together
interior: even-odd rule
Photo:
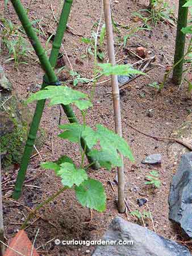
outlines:
[[[37,38],[35,31],[33,30],[32,26],[31,26],[30,20],[27,17],[26,11],[24,10],[22,3],[20,3],[19,0],[11,0],[11,2],[12,2],[12,5],[14,6],[16,13],[19,16],[20,21],[22,22],[23,28],[26,31],[26,34],[27,34],[28,38],[30,39],[32,46],[35,49],[36,55],[39,57],[41,66],[45,71],[44,82],[41,85],[41,89],[45,88],[45,86],[47,86],[48,84],[57,83],[57,76],[55,75],[53,68],[56,65],[57,56],[59,54],[59,49],[61,46],[64,31],[66,29],[66,23],[68,20],[68,16],[70,13],[70,8],[72,6],[73,0],[65,0],[64,7],[62,9],[62,13],[61,13],[61,17],[60,17],[60,21],[59,21],[59,26],[57,28],[57,33],[55,36],[55,40],[53,42],[53,47],[52,47],[52,51],[51,51],[49,60],[45,53],[45,50],[43,49],[43,47],[41,46],[41,44],[39,42],[39,39]],[[23,182],[24,182],[24,179],[26,176],[28,162],[30,161],[31,152],[32,152],[32,149],[34,146],[37,130],[39,128],[40,119],[41,119],[41,115],[43,113],[44,105],[45,105],[45,100],[38,101],[37,105],[36,105],[34,118],[32,119],[30,132],[29,132],[29,135],[27,138],[26,146],[24,148],[22,162],[20,165],[20,170],[19,170],[18,177],[16,179],[15,188],[14,188],[13,198],[15,200],[19,199],[19,197],[22,193]],[[66,116],[68,117],[69,122],[71,122],[71,123],[78,122],[77,118],[74,115],[73,110],[72,110],[72,108],[70,108],[70,106],[62,105],[62,108],[64,109],[64,112],[65,112]],[[85,147],[84,139],[82,139],[82,143],[84,146],[83,148],[87,148],[87,147]],[[89,151],[89,148],[86,149],[86,152],[88,152],[88,151]],[[90,158],[89,158],[89,160],[91,161]]]

